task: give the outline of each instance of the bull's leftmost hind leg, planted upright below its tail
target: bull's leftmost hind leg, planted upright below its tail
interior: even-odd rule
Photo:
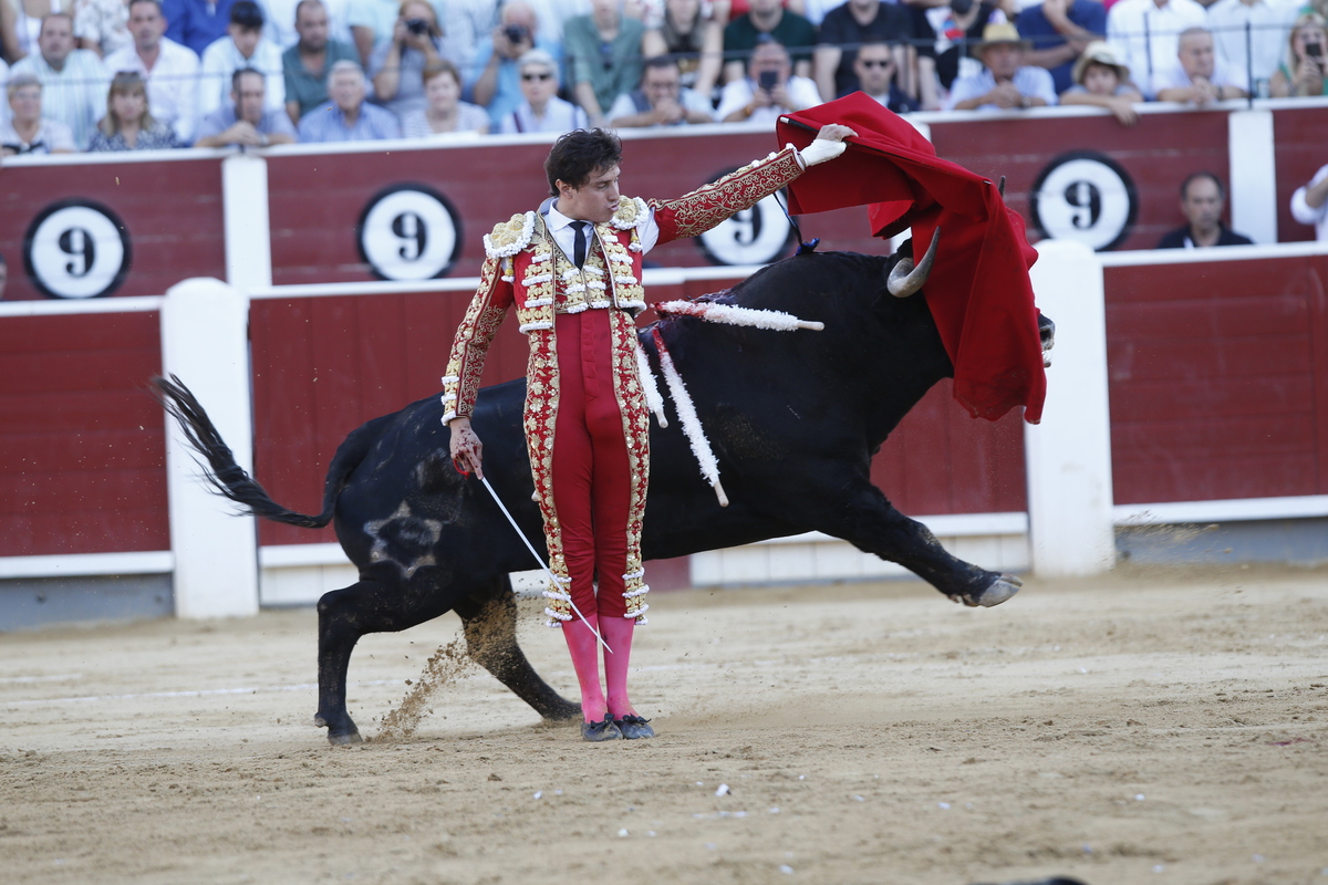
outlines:
[[[360,580],[319,600],[319,711],[313,723],[327,726],[328,743],[360,743],[345,709],[351,651],[365,633],[394,633],[438,617],[450,606],[437,588],[402,588],[398,581]]]

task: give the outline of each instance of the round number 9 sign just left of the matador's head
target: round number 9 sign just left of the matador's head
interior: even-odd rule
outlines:
[[[374,194],[355,235],[361,260],[380,280],[436,280],[461,255],[461,215],[446,196],[414,182]]]

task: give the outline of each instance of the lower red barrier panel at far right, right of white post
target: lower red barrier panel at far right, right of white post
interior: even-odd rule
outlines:
[[[1106,269],[1118,504],[1328,492],[1328,257]]]

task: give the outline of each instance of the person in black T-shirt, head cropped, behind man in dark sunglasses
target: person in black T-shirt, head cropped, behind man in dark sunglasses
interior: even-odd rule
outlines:
[[[912,15],[907,7],[880,0],[849,0],[831,9],[821,23],[821,44],[815,54],[817,90],[821,97],[829,101],[859,88],[853,62],[858,57],[858,46],[867,42],[895,46],[895,69],[891,73],[895,80],[904,81],[899,85],[911,88],[903,74],[912,70]]]

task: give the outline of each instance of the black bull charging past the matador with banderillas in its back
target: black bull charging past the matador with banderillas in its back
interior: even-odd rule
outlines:
[[[734,287],[725,301],[819,320],[823,332],[772,332],[665,318],[659,328],[714,447],[732,504],[703,480],[679,422],[652,423],[647,560],[821,531],[899,563],[946,596],[996,605],[1017,579],[946,552],[871,484],[871,458],[932,385],[952,375],[924,296],[891,297],[896,256],[842,252],[788,259]],[[641,344],[659,373],[648,334]],[[544,549],[522,435],[523,379],[481,391],[473,423],[485,475],[522,532]],[[353,585],[319,600],[319,711],[332,743],[360,739],[345,707],[351,651],[367,633],[404,630],[456,610],[470,655],[542,716],[570,718],[566,701],[517,645],[510,572],[535,564],[475,479],[449,456],[438,397],[374,418],[341,443],[323,512],[276,504],[240,470],[202,406],[182,385],[157,393],[207,459],[207,479],[248,512],[323,527],[360,569]],[[672,413],[672,409],[671,409]]]

